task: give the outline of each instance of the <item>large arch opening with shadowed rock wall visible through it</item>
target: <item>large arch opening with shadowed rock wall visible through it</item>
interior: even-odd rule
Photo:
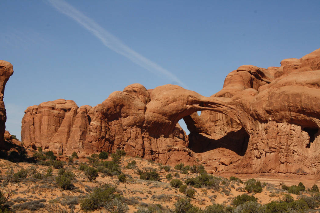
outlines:
[[[202,113],[204,118],[197,113],[183,118],[190,131],[188,148],[196,153],[222,148],[237,156],[244,156],[250,138],[244,127],[225,114],[210,111]]]

